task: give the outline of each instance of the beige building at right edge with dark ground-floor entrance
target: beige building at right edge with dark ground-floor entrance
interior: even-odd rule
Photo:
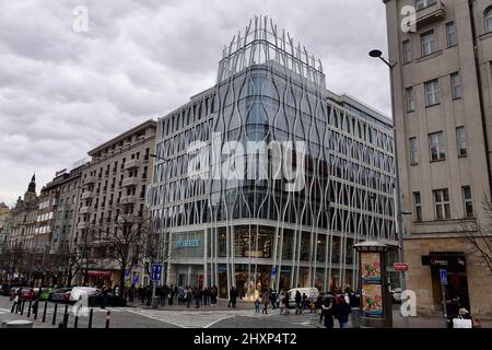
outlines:
[[[492,0],[384,0],[405,215],[407,289],[418,312],[460,296],[492,316],[492,271],[466,240],[491,195]],[[417,16],[403,25],[408,8]],[[403,14],[401,14],[403,10]],[[476,48],[476,49],[475,49]]]

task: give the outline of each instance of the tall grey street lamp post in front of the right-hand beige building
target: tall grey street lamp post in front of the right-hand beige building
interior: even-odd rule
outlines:
[[[391,117],[393,117],[393,142],[394,142],[394,152],[395,152],[395,168],[396,168],[396,212],[397,212],[397,234],[398,234],[398,258],[401,262],[405,261],[405,252],[403,252],[403,214],[411,214],[408,212],[403,212],[401,210],[401,190],[400,190],[400,176],[399,176],[399,166],[398,166],[398,147],[397,147],[397,131],[395,124],[395,92],[394,92],[394,81],[393,81],[393,69],[398,65],[398,62],[394,62],[387,60],[383,57],[383,52],[378,49],[371,50],[368,55],[373,58],[379,58],[386,66],[389,67],[389,83],[390,83],[390,93],[391,93]],[[401,292],[407,290],[407,281],[405,277],[405,271],[400,272],[400,285]],[[407,314],[402,315],[406,326],[408,327],[408,317]]]

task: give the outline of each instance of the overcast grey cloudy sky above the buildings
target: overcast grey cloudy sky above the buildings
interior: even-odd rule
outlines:
[[[387,51],[380,0],[0,0],[0,202],[212,86],[255,14],[321,59],[328,89],[389,115],[387,68],[367,56]]]

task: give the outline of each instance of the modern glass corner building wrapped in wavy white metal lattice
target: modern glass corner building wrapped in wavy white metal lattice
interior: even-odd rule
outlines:
[[[224,48],[215,86],[160,118],[148,201],[167,283],[358,287],[352,248],[397,246],[391,121],[325,85],[267,18]]]

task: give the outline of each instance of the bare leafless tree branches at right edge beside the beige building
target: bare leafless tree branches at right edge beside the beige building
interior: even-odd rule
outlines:
[[[485,195],[482,199],[482,213],[480,219],[462,223],[461,232],[473,257],[472,264],[492,272],[492,202]]]

